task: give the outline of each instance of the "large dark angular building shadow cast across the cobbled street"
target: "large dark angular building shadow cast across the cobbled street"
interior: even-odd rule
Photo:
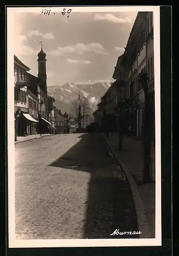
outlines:
[[[110,235],[116,229],[138,231],[130,187],[126,180],[113,177],[117,164],[100,134],[82,134],[79,139],[50,166],[90,173],[83,238],[138,238]]]

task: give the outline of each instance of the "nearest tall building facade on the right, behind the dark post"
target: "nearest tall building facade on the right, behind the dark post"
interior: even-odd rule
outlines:
[[[148,97],[150,98],[151,133],[155,137],[155,98],[154,98],[154,27],[152,12],[139,12],[124,52],[126,68],[126,92],[131,100],[130,125],[134,135],[141,137],[145,114],[145,98],[141,73],[148,74]],[[129,63],[128,65],[126,63]]]

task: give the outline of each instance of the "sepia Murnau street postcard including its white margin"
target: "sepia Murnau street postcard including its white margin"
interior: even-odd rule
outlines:
[[[160,246],[160,7],[7,7],[7,66],[9,247]]]

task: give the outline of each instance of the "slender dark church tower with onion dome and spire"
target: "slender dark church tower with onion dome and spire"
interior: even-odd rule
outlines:
[[[42,49],[41,41],[41,51],[38,53],[38,78],[41,80],[41,87],[43,88],[45,94],[47,94],[47,84],[46,84],[46,53]]]

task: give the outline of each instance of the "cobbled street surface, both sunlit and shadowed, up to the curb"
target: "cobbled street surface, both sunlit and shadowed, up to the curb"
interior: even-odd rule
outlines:
[[[41,137],[15,145],[17,239],[131,238],[137,231],[126,180],[99,134]],[[138,238],[132,236],[132,238]]]

